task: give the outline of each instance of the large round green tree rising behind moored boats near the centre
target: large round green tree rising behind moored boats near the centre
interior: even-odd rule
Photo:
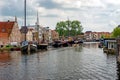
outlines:
[[[60,21],[56,24],[56,31],[60,36],[75,36],[81,34],[83,27],[78,20]]]

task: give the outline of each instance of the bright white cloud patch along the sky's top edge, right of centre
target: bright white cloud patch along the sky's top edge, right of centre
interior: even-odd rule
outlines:
[[[105,7],[101,0],[53,0],[65,8]]]

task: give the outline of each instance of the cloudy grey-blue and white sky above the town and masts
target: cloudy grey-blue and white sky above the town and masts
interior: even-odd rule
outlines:
[[[24,25],[24,0],[0,0],[0,21],[14,20]],[[36,22],[55,29],[62,20],[79,20],[85,31],[111,32],[120,24],[120,0],[27,0],[27,25]]]

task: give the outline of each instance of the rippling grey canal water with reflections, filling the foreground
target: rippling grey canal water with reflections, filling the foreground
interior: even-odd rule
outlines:
[[[116,55],[98,43],[41,51],[0,53],[0,80],[119,80]]]

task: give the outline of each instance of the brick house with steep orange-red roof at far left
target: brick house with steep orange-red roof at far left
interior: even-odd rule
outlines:
[[[0,45],[21,42],[21,33],[17,21],[0,22]]]

